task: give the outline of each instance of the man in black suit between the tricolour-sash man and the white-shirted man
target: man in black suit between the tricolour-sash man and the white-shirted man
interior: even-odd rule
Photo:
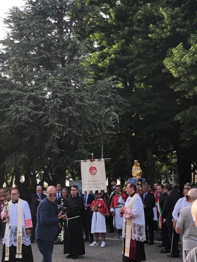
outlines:
[[[170,246],[172,243],[172,236],[173,236],[173,245],[172,245],[172,255],[171,257],[179,257],[179,250],[178,250],[178,239],[179,235],[173,231],[173,222],[172,222],[172,212],[174,210],[174,206],[177,203],[177,201],[180,198],[180,195],[178,195],[172,188],[170,184],[166,184],[164,186],[166,194],[168,195],[165,200],[164,207],[162,209],[162,216],[163,216],[163,223],[166,223],[168,228],[168,239],[170,242]],[[174,232],[174,234],[173,234]],[[170,257],[170,254],[167,255]]]

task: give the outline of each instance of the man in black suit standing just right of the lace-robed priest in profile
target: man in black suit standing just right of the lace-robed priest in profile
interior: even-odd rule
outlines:
[[[144,216],[145,216],[145,233],[146,243],[148,243],[149,233],[149,245],[154,244],[154,222],[153,222],[153,207],[155,207],[155,195],[149,192],[149,186],[143,185],[143,194],[141,195],[142,202],[144,204]],[[147,230],[148,227],[148,230]]]

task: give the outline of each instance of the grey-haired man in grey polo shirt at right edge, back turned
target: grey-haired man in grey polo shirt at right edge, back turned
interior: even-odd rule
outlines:
[[[187,196],[190,205],[181,210],[175,227],[177,234],[183,233],[183,262],[186,261],[189,251],[197,246],[197,230],[194,229],[191,214],[192,204],[197,199],[197,189],[190,189]]]

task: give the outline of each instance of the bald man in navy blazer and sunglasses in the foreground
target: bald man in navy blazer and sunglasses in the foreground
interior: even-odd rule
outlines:
[[[55,202],[57,190],[55,186],[49,186],[46,189],[46,198],[42,200],[37,210],[37,225],[35,230],[35,239],[42,261],[52,262],[54,239],[59,233],[59,219],[66,219],[62,211],[58,214],[57,204]]]

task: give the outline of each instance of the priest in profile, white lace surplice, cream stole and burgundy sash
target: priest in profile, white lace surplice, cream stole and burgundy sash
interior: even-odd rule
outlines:
[[[126,192],[129,197],[125,206],[120,208],[120,213],[124,214],[122,261],[141,262],[146,260],[143,244],[146,240],[144,207],[140,196],[136,193],[135,184],[128,184]]]

